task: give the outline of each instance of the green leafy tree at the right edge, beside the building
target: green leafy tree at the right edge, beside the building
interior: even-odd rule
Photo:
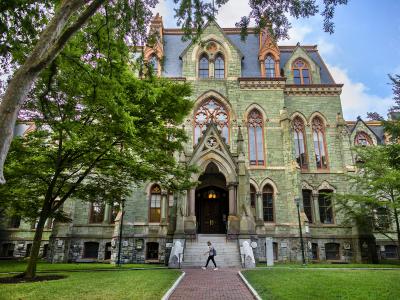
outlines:
[[[373,234],[374,230],[387,235],[384,228],[374,226],[376,212],[388,209],[388,221],[395,223],[397,244],[400,249],[400,76],[389,75],[393,87],[395,104],[389,109],[392,116],[384,120],[377,113],[369,113],[371,119],[383,123],[388,143],[375,147],[357,147],[356,156],[359,172],[352,176],[353,190],[345,195],[339,195],[339,204],[363,231]],[[374,221],[375,220],[375,221]],[[398,253],[400,258],[400,253]]]

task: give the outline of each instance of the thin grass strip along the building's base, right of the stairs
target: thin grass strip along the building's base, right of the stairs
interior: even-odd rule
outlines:
[[[257,263],[257,267],[266,267],[266,263]],[[275,263],[274,267],[288,268],[400,268],[399,261],[382,261],[380,264],[330,264],[330,263],[308,263],[303,266],[300,263]]]

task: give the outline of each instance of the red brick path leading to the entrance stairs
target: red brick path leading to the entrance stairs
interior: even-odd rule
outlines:
[[[238,275],[238,269],[185,269],[186,276],[169,299],[254,299]]]

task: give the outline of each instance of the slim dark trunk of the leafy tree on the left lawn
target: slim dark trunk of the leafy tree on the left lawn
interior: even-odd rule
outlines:
[[[40,244],[42,242],[43,230],[44,230],[44,225],[46,224],[47,217],[48,213],[46,213],[46,210],[42,210],[42,213],[40,214],[39,217],[39,222],[37,223],[36,226],[35,237],[33,238],[33,244],[31,248],[28,265],[26,267],[25,272],[22,273],[19,277],[23,277],[26,279],[33,279],[36,277],[36,265],[39,257]]]

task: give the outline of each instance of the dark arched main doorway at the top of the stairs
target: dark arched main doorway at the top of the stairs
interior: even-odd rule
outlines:
[[[229,199],[225,176],[211,162],[199,182],[196,189],[198,233],[226,233]]]

